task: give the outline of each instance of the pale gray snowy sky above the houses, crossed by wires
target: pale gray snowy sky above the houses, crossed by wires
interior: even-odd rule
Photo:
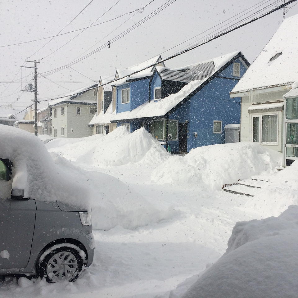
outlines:
[[[90,1],[91,0],[0,0],[0,46],[56,35]],[[62,33],[87,27],[118,1],[119,0],[93,0]],[[149,2],[150,0],[120,0],[94,24],[113,19],[129,11],[134,11]],[[108,40],[111,40],[130,26],[136,24],[165,2],[167,2],[167,0],[155,0],[149,4],[143,12],[133,12],[105,24],[86,29],[77,37],[75,36],[80,31],[58,36],[33,56],[32,54],[50,39],[10,47],[0,47],[0,110],[12,103],[16,111],[20,111],[22,108],[32,103],[30,99],[33,98],[33,93],[19,92],[21,87],[21,72],[18,73],[18,71],[20,70],[20,65],[23,65],[27,57],[30,57],[29,60],[36,59],[40,61],[38,73],[67,65],[78,56],[83,56],[97,47],[106,44]],[[230,21],[231,23],[229,25],[234,24],[236,21],[243,19],[245,16],[249,16],[252,12],[266,5],[271,5],[270,8],[265,10],[269,11],[282,3],[283,1],[274,0],[176,0],[156,16],[153,16],[132,32],[112,43],[111,48],[106,47],[71,67],[96,82],[98,82],[100,76],[102,76],[103,79],[112,79],[115,75],[116,68],[127,68],[130,65],[145,61],[160,53],[163,58],[166,58],[182,48],[187,47],[190,43],[194,43],[198,39],[203,38],[212,30],[220,31],[223,28],[219,29],[219,27],[223,25],[227,26]],[[296,4],[298,4],[298,2],[294,2],[289,6],[292,8],[288,10],[286,17],[298,13],[298,5]],[[251,11],[252,9],[253,11]],[[244,10],[246,11],[241,13]],[[236,16],[239,13],[241,14]],[[242,16],[244,13],[247,14]],[[253,24],[246,25],[222,38],[218,38],[191,52],[167,61],[166,66],[179,67],[234,51],[242,51],[248,61],[252,63],[281,24],[282,13],[282,10],[274,12]],[[260,15],[260,13],[258,13],[258,15]],[[241,18],[236,20],[236,18],[240,16]],[[218,25],[229,18],[231,18],[229,21]],[[123,22],[125,23],[121,25]],[[198,35],[187,43],[175,47],[179,43],[215,25],[218,26]],[[112,32],[113,30],[114,32]],[[107,34],[109,35],[105,37]],[[207,36],[204,38],[206,37]],[[54,52],[71,38],[74,39]],[[101,39],[102,41],[100,41]],[[172,47],[175,48],[169,50]],[[30,63],[26,65],[32,66]],[[75,70],[66,68],[52,75],[47,75],[46,78],[39,78],[38,98],[51,98],[66,93],[72,93],[76,89],[92,84],[90,79],[80,75]],[[25,75],[29,75],[30,71],[31,69],[26,69]],[[24,75],[24,72],[22,75]],[[26,80],[28,81],[31,78],[32,76],[29,76]],[[18,81],[10,85],[6,84],[6,82],[10,82],[13,79]],[[18,96],[20,96],[20,98],[16,101]],[[44,106],[46,106],[46,103],[40,104],[39,108]]]

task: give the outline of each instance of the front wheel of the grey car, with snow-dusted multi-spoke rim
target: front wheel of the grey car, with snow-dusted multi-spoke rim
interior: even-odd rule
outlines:
[[[70,247],[71,246],[71,247]],[[67,243],[52,247],[40,257],[38,275],[47,282],[75,281],[83,268],[83,258],[76,246]]]

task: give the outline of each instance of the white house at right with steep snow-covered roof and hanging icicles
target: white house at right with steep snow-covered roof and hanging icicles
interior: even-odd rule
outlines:
[[[298,15],[287,18],[230,92],[241,97],[241,141],[283,152],[284,98],[297,79]]]

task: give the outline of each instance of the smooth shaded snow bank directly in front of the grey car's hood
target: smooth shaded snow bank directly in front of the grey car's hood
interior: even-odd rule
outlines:
[[[89,190],[93,229],[109,230],[116,226],[133,229],[173,216],[169,210],[157,210],[140,193],[108,174],[86,171],[52,153],[64,172],[81,176],[80,185]]]

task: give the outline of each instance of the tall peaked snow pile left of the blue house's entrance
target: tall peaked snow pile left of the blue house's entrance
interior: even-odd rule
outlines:
[[[61,146],[61,142],[65,145]],[[53,147],[57,145],[57,147]],[[46,147],[68,160],[102,168],[115,167],[140,161],[165,160],[167,152],[144,128],[129,133],[120,126],[107,135],[87,138],[52,140]]]

